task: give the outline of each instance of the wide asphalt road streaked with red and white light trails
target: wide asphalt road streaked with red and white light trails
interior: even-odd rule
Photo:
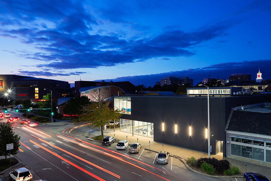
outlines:
[[[56,122],[32,128],[16,121],[12,126],[21,137],[16,157],[23,164],[18,168],[30,169],[33,180],[235,180],[194,173],[173,157],[169,164],[156,164],[157,153],[144,148],[139,154],[129,154],[128,149],[116,150],[117,143],[101,146],[83,137],[90,130],[84,123]],[[2,175],[4,180],[9,171]]]

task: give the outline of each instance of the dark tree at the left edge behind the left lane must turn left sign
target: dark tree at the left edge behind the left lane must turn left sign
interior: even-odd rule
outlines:
[[[7,161],[7,156],[9,155],[9,150],[6,150],[6,144],[13,143],[13,149],[10,150],[10,154],[17,154],[20,146],[20,136],[15,135],[12,131],[12,126],[9,123],[0,123],[0,156],[5,156],[5,161]]]

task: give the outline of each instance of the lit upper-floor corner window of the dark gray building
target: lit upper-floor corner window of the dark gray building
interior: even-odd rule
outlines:
[[[117,109],[123,114],[131,114],[131,97],[114,97],[114,110]]]

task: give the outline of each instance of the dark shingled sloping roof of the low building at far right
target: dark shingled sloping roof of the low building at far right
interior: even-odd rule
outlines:
[[[271,136],[271,113],[233,111],[226,130]]]

